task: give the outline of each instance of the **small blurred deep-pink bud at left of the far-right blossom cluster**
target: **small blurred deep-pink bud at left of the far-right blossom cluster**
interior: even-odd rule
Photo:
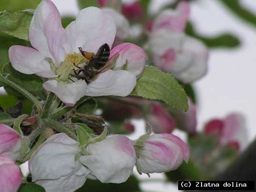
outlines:
[[[223,129],[223,121],[221,119],[213,119],[204,127],[205,135],[221,135]]]

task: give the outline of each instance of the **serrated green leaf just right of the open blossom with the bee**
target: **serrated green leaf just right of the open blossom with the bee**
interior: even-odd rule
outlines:
[[[187,96],[181,85],[171,74],[153,66],[146,66],[131,95],[158,99],[181,111],[188,110]]]

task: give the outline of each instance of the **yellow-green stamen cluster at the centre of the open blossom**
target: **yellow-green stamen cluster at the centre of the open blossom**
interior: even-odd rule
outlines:
[[[56,75],[59,75],[59,80],[68,81],[68,77],[75,67],[87,61],[88,59],[80,53],[66,54],[64,62],[62,62],[61,65],[56,69],[55,73]]]

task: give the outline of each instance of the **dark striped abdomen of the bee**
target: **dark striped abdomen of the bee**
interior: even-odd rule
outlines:
[[[102,68],[108,61],[110,55],[110,48],[107,43],[100,46],[94,57],[94,67],[96,69]]]

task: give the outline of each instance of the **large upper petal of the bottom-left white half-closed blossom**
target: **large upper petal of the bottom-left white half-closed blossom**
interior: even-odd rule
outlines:
[[[59,179],[75,170],[79,144],[64,133],[47,139],[31,156],[29,170],[32,181]]]

